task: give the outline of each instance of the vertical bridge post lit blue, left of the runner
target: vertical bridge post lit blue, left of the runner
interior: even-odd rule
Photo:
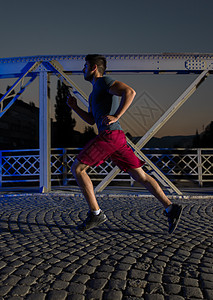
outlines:
[[[49,75],[41,70],[39,75],[39,148],[40,148],[40,192],[51,190],[50,160],[50,106]]]

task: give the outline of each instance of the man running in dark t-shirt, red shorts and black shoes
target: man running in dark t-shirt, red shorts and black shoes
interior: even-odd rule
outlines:
[[[123,82],[104,76],[106,59],[102,55],[91,54],[85,58],[84,79],[93,85],[89,96],[88,112],[82,110],[73,96],[68,96],[67,104],[87,123],[96,124],[99,134],[90,141],[75,159],[72,173],[87,200],[90,211],[79,230],[91,229],[107,220],[95,197],[92,181],[87,169],[98,166],[109,157],[121,169],[145,186],[164,206],[168,217],[169,233],[177,226],[182,207],[172,204],[158,183],[142,170],[141,161],[127,145],[126,138],[119,124],[119,119],[128,109],[135,97],[135,91]],[[121,97],[120,101],[119,98]]]

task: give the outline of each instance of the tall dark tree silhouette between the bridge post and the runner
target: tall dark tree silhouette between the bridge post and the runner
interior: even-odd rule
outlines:
[[[58,80],[55,104],[55,130],[54,144],[57,147],[70,147],[74,145],[74,127],[76,121],[72,118],[72,111],[66,104],[69,94],[68,87]]]

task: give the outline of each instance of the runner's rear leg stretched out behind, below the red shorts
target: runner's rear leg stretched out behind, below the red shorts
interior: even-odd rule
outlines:
[[[144,185],[152,195],[154,195],[164,206],[164,214],[168,217],[169,233],[172,233],[177,227],[181,216],[182,207],[178,204],[172,204],[171,201],[164,194],[163,190],[157,181],[150,175],[146,174],[142,168],[128,170],[130,176],[140,184]]]

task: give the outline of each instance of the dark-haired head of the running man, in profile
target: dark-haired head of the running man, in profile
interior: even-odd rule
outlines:
[[[106,70],[106,58],[99,54],[88,54],[85,57],[86,64],[84,65],[84,78],[91,81],[94,76],[94,72],[97,70],[98,73],[103,76]]]

